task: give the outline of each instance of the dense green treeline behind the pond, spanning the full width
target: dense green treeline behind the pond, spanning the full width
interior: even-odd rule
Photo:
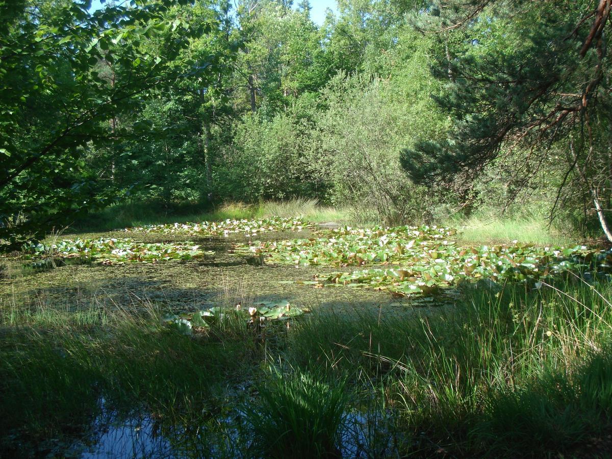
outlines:
[[[0,240],[121,200],[606,226],[610,1],[0,4]]]

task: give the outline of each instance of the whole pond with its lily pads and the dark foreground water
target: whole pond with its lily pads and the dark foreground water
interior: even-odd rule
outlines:
[[[78,421],[69,420],[65,426],[42,428],[29,443],[23,442],[23,436],[29,435],[28,429],[11,426],[16,433],[9,434],[15,438],[15,441],[9,438],[9,450],[20,450],[23,455],[34,457],[242,455],[248,452],[250,439],[245,437],[248,429],[241,410],[258,401],[256,379],[263,378],[266,367],[280,362],[280,354],[275,353],[277,338],[291,341],[288,327],[294,320],[300,320],[293,317],[286,320],[289,315],[283,314],[283,308],[279,309],[278,305],[287,305],[287,310],[291,305],[294,311],[316,312],[321,316],[375,318],[368,325],[370,345],[364,354],[376,357],[371,349],[371,324],[380,324],[383,318],[386,321],[394,317],[418,320],[446,312],[452,314],[453,306],[461,299],[461,282],[466,280],[490,291],[502,281],[518,281],[528,289],[537,289],[555,276],[567,277],[575,272],[580,272],[583,278],[587,275],[607,278],[612,266],[610,254],[582,246],[457,247],[452,236],[446,228],[407,226],[333,230],[309,225],[291,231],[261,231],[247,236],[233,233],[201,235],[190,230],[181,233],[173,227],[140,228],[129,233],[66,235],[66,239],[78,241],[66,244],[51,241],[45,247],[26,252],[20,259],[6,259],[5,266],[12,267],[5,268],[5,272],[15,273],[0,278],[0,332],[13,337],[5,340],[6,349],[21,358],[20,349],[25,347],[20,346],[34,343],[49,353],[52,360],[61,355],[56,362],[59,365],[63,365],[65,356],[66,360],[77,356],[74,359],[83,365],[85,373],[102,369],[102,373],[90,379],[83,376],[84,385],[91,384],[91,387],[86,390],[79,387],[77,394],[81,395],[75,395],[89,400],[80,408]],[[132,241],[122,242],[125,237]],[[28,257],[31,259],[24,259]],[[23,266],[29,268],[22,269]],[[211,334],[200,329],[187,341],[181,341],[154,327],[151,337],[146,337],[149,328],[145,324],[144,338],[138,341],[122,338],[121,330],[113,329],[108,321],[99,320],[100,315],[112,315],[113,311],[148,317],[147,320],[171,313],[176,320],[192,321],[194,330],[198,330],[198,324],[209,325],[196,323],[195,313],[206,312],[198,320],[218,318],[218,307],[241,309],[241,320],[250,317],[248,332],[245,334],[247,323],[244,321],[237,338],[232,336],[225,340],[215,336],[216,332]],[[255,307],[261,309],[261,316],[253,312]],[[285,322],[280,327],[271,326],[267,339],[262,333],[253,334],[259,326],[255,318],[263,323],[264,311],[271,308],[275,311],[274,319]],[[20,327],[28,325],[30,317],[36,313],[45,316],[45,311],[50,309],[64,313],[62,317],[82,315],[75,322],[81,328],[66,338],[68,344],[54,341],[56,334],[68,336],[63,333],[69,326],[62,323],[34,324],[31,343],[27,342],[30,337],[19,335],[15,338]],[[214,313],[207,313],[211,309]],[[92,310],[94,319],[87,315]],[[152,316],[151,312],[154,312]],[[13,318],[17,316],[22,322]],[[285,324],[287,328],[283,329]],[[338,333],[341,335],[341,332]],[[338,341],[338,346],[348,349],[347,352],[350,352],[348,344],[356,337],[367,341],[365,332],[353,333],[356,334],[347,336],[346,341]],[[109,337],[108,342],[105,334]],[[117,342],[111,345],[112,340]],[[164,348],[166,341],[177,348]],[[200,342],[202,347],[215,350],[207,354],[200,349]],[[135,349],[141,343],[145,343],[144,348]],[[402,343],[392,345],[398,346],[399,354],[405,352],[401,349]],[[109,350],[105,354],[106,346]],[[128,363],[113,361],[116,353],[113,346],[119,349],[116,358]],[[78,357],[80,353],[88,357]],[[219,353],[227,357],[219,358]],[[20,361],[29,365],[32,358],[36,357],[24,357],[25,360]],[[218,367],[227,365],[233,370],[217,368],[214,373],[204,363],[199,367],[192,361],[202,359],[206,362],[211,358],[219,358],[222,363]],[[101,363],[95,359],[100,359]],[[326,354],[324,359],[324,364],[333,368],[342,357]],[[95,371],[88,366],[89,360],[94,361],[91,368],[95,367]],[[384,373],[395,365],[391,360],[381,362],[376,363],[379,368],[372,370],[373,375]],[[122,371],[130,373],[138,365],[145,370],[135,371],[133,378],[127,375],[123,379]],[[147,372],[149,365],[151,371]],[[155,381],[141,384],[143,378],[157,378],[155,365],[159,365],[160,371],[168,372],[163,376],[168,381],[173,381],[173,374],[183,368],[191,373],[184,380],[178,378],[178,386],[172,389],[176,394],[170,390],[157,397],[155,390],[160,387],[155,386]],[[41,368],[48,370],[44,365]],[[67,368],[57,371],[70,371]],[[118,373],[107,376],[104,374],[107,368]],[[17,379],[19,371],[13,373]],[[62,374],[58,377],[61,379]],[[363,378],[359,379],[359,384],[365,387],[371,384],[371,387],[362,390],[362,394],[378,384],[370,379],[371,376]],[[162,390],[166,379],[160,379]],[[191,384],[196,389],[192,389]],[[202,391],[203,394],[178,397],[177,394],[184,390]],[[204,393],[208,390],[210,397]],[[116,396],[119,401],[110,401],[108,396]],[[147,400],[139,400],[139,397]],[[173,397],[177,397],[176,400]],[[43,405],[51,403],[44,395],[40,398]],[[45,413],[48,409],[54,406],[42,406],[37,413]],[[367,457],[373,450],[381,455],[401,450],[398,447],[403,441],[398,434],[401,430],[385,427],[393,422],[393,416],[387,416],[389,409],[381,406],[372,409],[369,401],[351,403],[343,414],[338,453],[343,457]]]

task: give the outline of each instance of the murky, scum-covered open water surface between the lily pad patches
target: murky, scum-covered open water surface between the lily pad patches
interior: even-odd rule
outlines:
[[[122,233],[79,234],[81,239],[121,237]],[[259,241],[283,241],[289,238],[311,237],[311,231],[266,233]],[[70,237],[66,235],[65,237]],[[132,237],[134,237],[132,235]],[[180,235],[138,234],[134,237],[147,243],[177,243]],[[169,260],[160,263],[127,263],[118,266],[103,264],[68,264],[57,269],[37,272],[33,276],[0,280],[0,305],[17,298],[26,304],[45,300],[76,307],[92,298],[103,304],[135,304],[146,299],[172,310],[196,310],[212,307],[220,299],[239,300],[241,296],[255,299],[289,300],[300,307],[353,308],[363,307],[376,313],[394,313],[411,303],[409,299],[392,297],[374,290],[313,288],[287,281],[309,281],[313,275],[337,271],[324,266],[287,266],[270,264],[252,266],[248,257],[230,253],[236,242],[248,242],[248,237],[189,237],[203,250],[214,255],[201,259]],[[230,297],[230,298],[228,298]],[[138,301],[135,301],[138,300]]]

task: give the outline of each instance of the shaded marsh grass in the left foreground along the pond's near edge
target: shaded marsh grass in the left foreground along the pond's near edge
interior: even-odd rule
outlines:
[[[23,308],[18,299],[2,307],[0,450],[78,435],[100,398],[117,412],[201,419],[252,365],[252,343],[230,324],[191,338],[163,326],[159,307],[138,311],[95,299],[77,308]]]

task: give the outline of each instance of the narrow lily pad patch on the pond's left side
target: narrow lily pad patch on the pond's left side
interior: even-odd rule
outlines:
[[[24,259],[88,258],[102,264],[156,263],[167,259],[192,259],[214,252],[202,250],[192,242],[181,244],[144,244],[132,239],[65,239],[54,244],[30,244],[24,247]]]

